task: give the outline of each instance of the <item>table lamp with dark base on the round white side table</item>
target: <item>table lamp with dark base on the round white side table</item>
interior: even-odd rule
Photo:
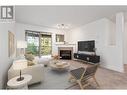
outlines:
[[[20,70],[20,77],[17,78],[17,81],[22,81],[24,77],[21,76],[21,70],[27,68],[27,60],[17,60],[13,62],[13,69]]]

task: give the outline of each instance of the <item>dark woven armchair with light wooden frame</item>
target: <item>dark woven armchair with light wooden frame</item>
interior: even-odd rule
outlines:
[[[88,80],[93,78],[94,81],[96,82],[96,84],[99,86],[99,84],[95,78],[95,73],[97,71],[97,68],[98,68],[98,65],[96,64],[96,65],[89,66],[87,68],[81,67],[78,69],[71,70],[70,71],[71,78],[69,80],[75,79],[76,84],[74,84],[73,86],[78,84],[80,86],[80,88],[83,89],[84,87],[89,85]],[[73,87],[73,86],[71,86],[71,87]]]

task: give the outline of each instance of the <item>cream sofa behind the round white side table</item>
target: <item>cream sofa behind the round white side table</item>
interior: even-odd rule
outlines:
[[[13,62],[14,63],[14,62]],[[13,65],[8,70],[8,80],[15,76],[19,76],[20,71],[14,70]],[[22,74],[30,74],[32,75],[32,80],[28,83],[28,85],[42,82],[44,75],[43,75],[43,64],[35,64],[33,66],[28,66],[27,68],[22,70]]]

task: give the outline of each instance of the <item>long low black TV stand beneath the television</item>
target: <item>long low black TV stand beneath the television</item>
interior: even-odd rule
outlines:
[[[75,59],[80,59],[86,62],[90,63],[99,63],[100,62],[100,56],[97,55],[89,55],[84,53],[74,53]]]

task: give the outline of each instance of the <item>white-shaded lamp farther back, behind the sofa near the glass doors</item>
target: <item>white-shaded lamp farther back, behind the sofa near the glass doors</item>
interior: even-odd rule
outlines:
[[[20,50],[20,56],[24,56],[24,49],[27,48],[26,41],[17,41],[17,48]]]

